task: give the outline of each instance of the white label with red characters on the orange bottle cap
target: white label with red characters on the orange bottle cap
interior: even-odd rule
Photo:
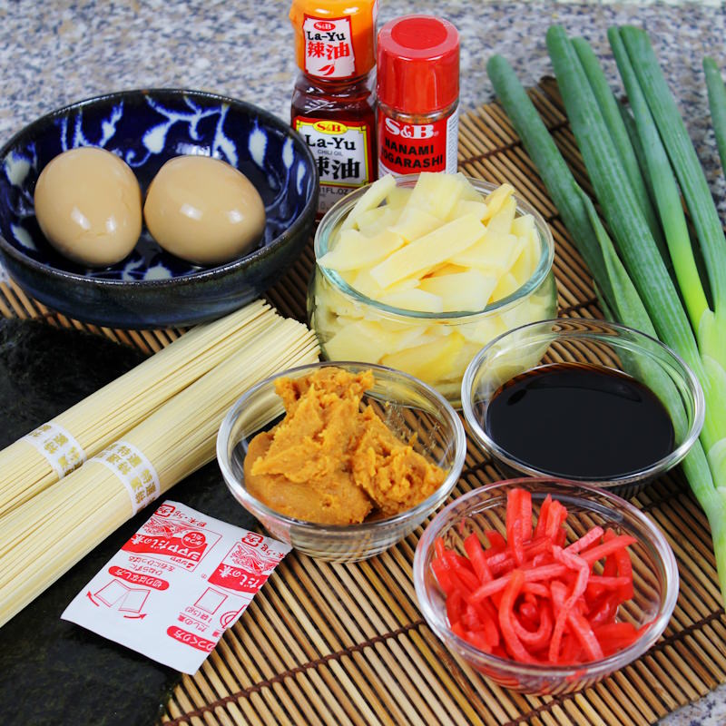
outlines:
[[[305,15],[305,73],[319,78],[350,78],[356,72],[349,17]]]

